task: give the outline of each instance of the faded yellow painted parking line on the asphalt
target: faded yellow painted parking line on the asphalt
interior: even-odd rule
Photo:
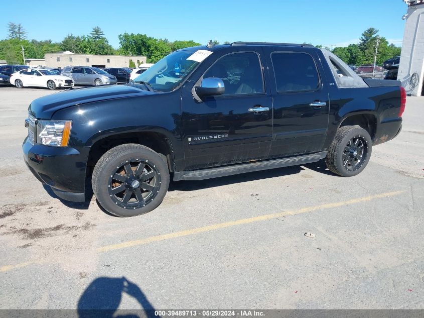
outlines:
[[[218,224],[213,224],[213,225],[200,227],[200,228],[194,228],[194,229],[185,230],[185,231],[179,231],[179,232],[174,232],[174,233],[169,233],[169,234],[164,234],[164,235],[152,236],[152,237],[149,237],[149,238],[146,238],[146,239],[141,239],[141,240],[127,241],[127,242],[122,242],[122,243],[112,244],[112,245],[105,245],[105,246],[99,247],[97,249],[97,251],[102,253],[102,252],[107,252],[107,251],[112,251],[112,250],[119,250],[119,249],[123,249],[123,248],[128,248],[128,247],[132,247],[132,246],[145,245],[145,244],[149,244],[149,243],[152,243],[152,242],[165,241],[165,240],[169,240],[169,239],[175,239],[175,238],[194,235],[194,234],[198,234],[198,233],[204,233],[204,232],[229,228],[229,227],[242,225],[242,224],[260,222],[260,221],[265,221],[265,220],[269,220],[269,219],[275,219],[275,218],[278,218],[278,217],[298,215],[298,214],[308,213],[308,212],[312,212],[312,211],[316,211],[316,210],[329,209],[329,208],[340,207],[340,206],[349,205],[349,204],[353,204],[353,203],[371,201],[371,200],[375,200],[375,199],[378,199],[378,198],[385,198],[385,197],[399,195],[403,192],[405,192],[405,191],[393,191],[393,192],[386,192],[386,193],[368,195],[368,196],[363,196],[363,197],[359,197],[359,198],[351,199],[351,200],[347,200],[347,201],[326,203],[326,204],[320,204],[320,205],[315,205],[315,206],[308,206],[308,207],[304,207],[304,208],[296,209],[296,210],[289,210],[289,211],[283,211],[283,212],[279,212],[279,213],[273,213],[273,214],[267,214],[267,215],[263,215],[263,216],[253,217],[253,218],[247,218],[247,219],[240,219],[240,220],[229,221],[229,222],[224,222],[224,223],[218,223]],[[39,264],[39,263],[41,263],[41,261],[29,261],[29,262],[24,262],[24,263],[15,264],[15,265],[7,265],[7,266],[0,267],[0,272],[7,272],[7,271],[10,271],[12,269],[22,268],[22,267],[26,267],[26,266],[29,266],[29,265]]]

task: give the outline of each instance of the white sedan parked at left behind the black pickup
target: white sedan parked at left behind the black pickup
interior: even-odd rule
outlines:
[[[11,84],[18,88],[38,86],[47,87],[49,89],[74,86],[74,82],[71,78],[57,75],[48,69],[42,68],[29,68],[12,74]]]

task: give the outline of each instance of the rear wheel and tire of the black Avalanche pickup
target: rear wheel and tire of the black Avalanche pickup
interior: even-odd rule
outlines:
[[[359,126],[343,126],[328,149],[325,162],[331,172],[352,177],[362,172],[371,157],[372,140]]]

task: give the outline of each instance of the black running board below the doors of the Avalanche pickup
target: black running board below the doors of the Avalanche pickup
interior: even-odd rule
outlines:
[[[297,166],[311,162],[317,162],[325,158],[326,151],[315,153],[312,155],[289,157],[283,159],[274,159],[266,161],[257,161],[250,163],[243,163],[232,166],[217,167],[211,169],[193,170],[193,171],[180,171],[174,173],[174,181],[180,180],[204,180],[217,177],[225,177],[228,175],[260,171],[273,168]]]

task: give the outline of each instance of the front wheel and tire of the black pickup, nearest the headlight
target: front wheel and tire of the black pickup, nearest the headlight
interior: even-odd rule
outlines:
[[[109,213],[132,217],[161,204],[169,179],[168,166],[158,153],[146,146],[124,144],[99,159],[91,184],[100,205]]]

